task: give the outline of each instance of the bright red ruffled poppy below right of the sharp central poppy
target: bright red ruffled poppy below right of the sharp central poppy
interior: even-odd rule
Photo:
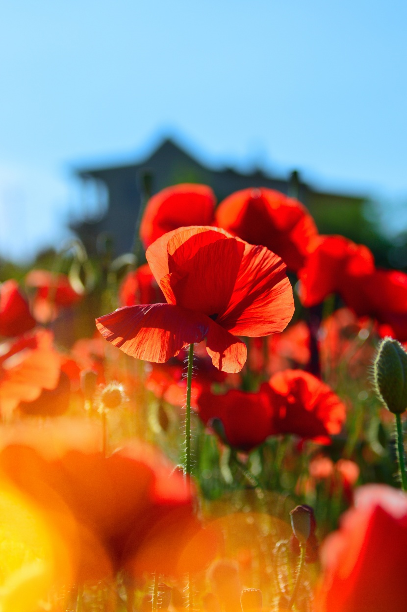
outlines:
[[[330,436],[342,429],[345,406],[329,386],[308,372],[278,372],[261,390],[269,393],[274,435],[291,433],[329,444]]]

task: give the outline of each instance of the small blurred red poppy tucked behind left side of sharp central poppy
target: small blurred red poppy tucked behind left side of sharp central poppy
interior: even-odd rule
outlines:
[[[158,304],[164,300],[164,294],[157,285],[149,264],[144,264],[125,275],[119,289],[119,301],[122,306]]]

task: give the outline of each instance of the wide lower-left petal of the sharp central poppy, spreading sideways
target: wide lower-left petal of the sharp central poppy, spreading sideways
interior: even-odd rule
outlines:
[[[200,342],[211,319],[172,304],[126,306],[96,319],[105,340],[137,359],[163,363]]]

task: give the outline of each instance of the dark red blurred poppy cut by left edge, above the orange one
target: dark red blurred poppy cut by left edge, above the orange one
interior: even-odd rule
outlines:
[[[0,336],[10,338],[25,334],[35,327],[35,319],[29,312],[15,280],[6,280],[0,285]]]

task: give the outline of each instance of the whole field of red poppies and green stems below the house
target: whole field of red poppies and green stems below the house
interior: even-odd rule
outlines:
[[[407,610],[406,274],[181,184],[3,280],[0,612]]]

